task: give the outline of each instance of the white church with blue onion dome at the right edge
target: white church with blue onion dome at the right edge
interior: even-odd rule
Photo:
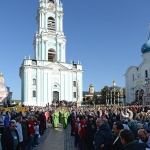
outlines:
[[[149,24],[150,28],[150,24]],[[125,74],[126,102],[144,100],[145,81],[150,78],[150,36],[141,48],[143,61],[139,66],[130,66]]]

